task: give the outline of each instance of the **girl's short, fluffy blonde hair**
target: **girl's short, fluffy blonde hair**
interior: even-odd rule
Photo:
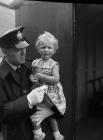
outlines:
[[[40,34],[37,38],[37,41],[35,43],[36,49],[38,50],[40,45],[47,45],[47,46],[54,46],[54,49],[58,49],[58,40],[55,38],[54,35],[52,35],[50,32],[44,31],[43,34]]]

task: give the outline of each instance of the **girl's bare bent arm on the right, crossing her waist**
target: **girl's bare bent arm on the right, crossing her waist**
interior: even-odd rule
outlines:
[[[37,73],[37,78],[40,79],[43,82],[48,82],[48,83],[51,83],[51,84],[57,83],[60,80],[58,65],[55,65],[53,67],[52,76]]]

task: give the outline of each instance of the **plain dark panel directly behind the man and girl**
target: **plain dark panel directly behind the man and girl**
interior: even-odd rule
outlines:
[[[65,140],[72,140],[72,15],[71,3],[53,2],[25,2],[24,6],[16,11],[16,26],[25,26],[24,34],[31,42],[27,50],[27,61],[39,57],[35,50],[36,38],[43,31],[49,31],[59,41],[59,50],[54,59],[60,63],[61,83],[67,100],[65,118],[59,121],[61,133]],[[48,138],[48,135],[47,135]],[[49,137],[51,140],[51,137]]]

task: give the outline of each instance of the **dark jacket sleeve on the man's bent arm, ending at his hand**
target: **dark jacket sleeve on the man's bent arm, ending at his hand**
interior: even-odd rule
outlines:
[[[7,102],[4,89],[0,85],[0,121],[13,123],[29,118],[36,108],[29,108],[27,96],[22,96],[14,101]]]

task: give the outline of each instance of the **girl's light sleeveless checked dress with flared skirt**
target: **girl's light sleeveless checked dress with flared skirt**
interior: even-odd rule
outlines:
[[[41,58],[35,59],[32,62],[32,69],[37,73],[42,73],[45,75],[52,75],[52,69],[55,65],[58,65],[58,62],[53,59],[49,59],[47,62],[42,61]],[[34,72],[34,73],[35,73]],[[53,104],[57,107],[58,111],[63,115],[66,110],[66,99],[63,93],[63,88],[60,82],[55,84],[50,84],[47,82],[39,81],[39,85],[46,84],[48,85],[47,95],[53,102]]]

